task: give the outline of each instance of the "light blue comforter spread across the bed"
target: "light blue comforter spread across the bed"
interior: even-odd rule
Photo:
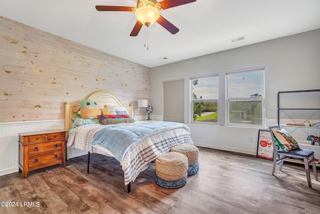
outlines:
[[[115,159],[121,161],[127,148],[129,148],[129,146],[134,142],[137,142],[150,134],[177,127],[183,127],[189,132],[189,128],[182,123],[163,121],[152,121],[138,124],[132,123],[132,125],[123,126],[109,126],[99,130],[94,135],[91,145],[103,146],[112,152]]]

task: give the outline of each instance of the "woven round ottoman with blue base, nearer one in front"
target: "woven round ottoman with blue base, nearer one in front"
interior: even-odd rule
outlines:
[[[178,152],[161,154],[154,162],[154,181],[157,185],[174,189],[187,182],[188,158]]]

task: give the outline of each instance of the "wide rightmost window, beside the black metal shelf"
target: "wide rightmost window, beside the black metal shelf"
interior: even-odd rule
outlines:
[[[264,68],[226,73],[227,125],[264,127]]]

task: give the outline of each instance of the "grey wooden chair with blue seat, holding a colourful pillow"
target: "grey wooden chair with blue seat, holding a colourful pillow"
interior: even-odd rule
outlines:
[[[280,163],[279,170],[282,171],[283,160],[285,158],[291,157],[296,160],[299,160],[304,163],[305,173],[306,173],[306,180],[308,182],[308,186],[311,188],[311,179],[310,179],[310,172],[309,172],[309,164],[312,163],[312,170],[314,173],[314,178],[318,181],[318,176],[316,173],[316,166],[314,161],[314,151],[308,149],[294,149],[288,152],[279,149],[279,146],[274,139],[273,130],[280,130],[280,126],[271,126],[269,127],[272,143],[273,143],[273,168],[272,168],[272,175],[274,175],[275,165]]]

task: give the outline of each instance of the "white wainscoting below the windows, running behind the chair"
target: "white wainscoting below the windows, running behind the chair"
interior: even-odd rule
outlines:
[[[276,119],[265,119],[265,129],[268,130],[269,126],[276,125],[276,122]],[[256,155],[258,130],[263,129],[223,125],[186,125],[190,128],[194,145],[251,155]],[[306,140],[307,134],[319,136],[320,129],[288,126],[282,128],[287,129],[290,133],[293,131],[292,129],[296,129],[292,132],[292,136],[298,141],[300,148],[313,150],[315,158],[320,159],[320,146],[318,146],[318,143],[310,145],[310,141]]]

